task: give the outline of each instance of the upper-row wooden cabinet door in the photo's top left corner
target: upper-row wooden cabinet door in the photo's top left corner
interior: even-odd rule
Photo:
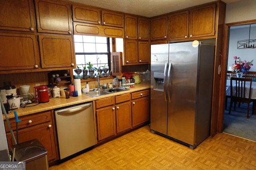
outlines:
[[[1,0],[0,29],[35,31],[31,0]]]

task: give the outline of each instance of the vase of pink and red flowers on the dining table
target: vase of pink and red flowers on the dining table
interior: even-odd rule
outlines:
[[[239,61],[238,61],[239,59]],[[246,74],[253,66],[252,61],[247,62],[246,60],[241,61],[240,57],[234,56],[235,62],[232,64],[232,71],[236,73],[236,77],[242,78],[243,74]]]

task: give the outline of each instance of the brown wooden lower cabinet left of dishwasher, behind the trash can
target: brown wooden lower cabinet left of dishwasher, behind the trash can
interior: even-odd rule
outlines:
[[[40,141],[40,143],[42,143],[42,145],[47,150],[47,158],[49,164],[58,160],[56,134],[54,134],[52,111],[21,116],[19,119],[22,121],[18,124],[18,143],[30,141],[32,139],[38,139],[38,141]],[[14,145],[14,140],[6,121],[4,121],[4,124],[8,147],[9,150],[11,150],[11,147]],[[10,119],[10,124],[12,126],[14,136],[17,139],[15,118]]]

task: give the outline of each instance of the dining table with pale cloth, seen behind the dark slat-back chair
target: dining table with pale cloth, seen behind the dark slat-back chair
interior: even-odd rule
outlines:
[[[232,83],[233,89],[236,86],[235,80]],[[249,98],[249,91],[250,91],[250,82],[245,83],[245,96]],[[230,80],[226,80],[226,96],[230,96],[231,88],[230,88]],[[233,90],[234,94],[235,90]],[[256,82],[252,82],[252,89],[251,89],[251,99],[256,99]]]

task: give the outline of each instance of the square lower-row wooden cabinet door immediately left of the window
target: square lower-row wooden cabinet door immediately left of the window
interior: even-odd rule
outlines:
[[[71,36],[39,35],[42,68],[74,66],[73,40]]]

